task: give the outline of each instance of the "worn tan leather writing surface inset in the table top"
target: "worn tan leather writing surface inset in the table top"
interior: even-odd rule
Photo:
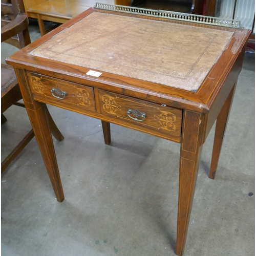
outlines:
[[[197,91],[232,35],[94,12],[29,54]]]

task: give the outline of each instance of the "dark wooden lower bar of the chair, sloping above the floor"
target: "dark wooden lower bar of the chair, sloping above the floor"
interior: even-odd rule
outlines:
[[[1,163],[1,173],[9,166],[9,164],[17,157],[17,155],[22,152],[23,148],[32,140],[34,137],[33,129],[24,137],[22,141],[14,148],[14,150],[6,157],[6,159]]]

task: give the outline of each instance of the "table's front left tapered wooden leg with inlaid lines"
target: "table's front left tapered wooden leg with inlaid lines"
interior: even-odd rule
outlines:
[[[15,68],[15,72],[28,116],[34,130],[42,158],[44,158],[54,193],[56,195],[56,199],[59,202],[62,202],[64,200],[64,194],[52,141],[47,106],[45,103],[34,101],[27,82],[28,78],[24,70]]]

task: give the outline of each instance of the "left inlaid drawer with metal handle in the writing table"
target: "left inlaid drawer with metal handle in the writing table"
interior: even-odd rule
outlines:
[[[41,99],[55,105],[64,103],[66,105],[79,106],[81,109],[96,112],[92,87],[31,72],[27,72],[27,75],[35,99]],[[67,94],[65,95],[63,92]]]

